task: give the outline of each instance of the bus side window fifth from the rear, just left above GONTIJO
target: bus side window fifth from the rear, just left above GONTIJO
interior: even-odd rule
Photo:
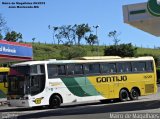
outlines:
[[[84,70],[86,74],[100,73],[99,64],[86,64]]]

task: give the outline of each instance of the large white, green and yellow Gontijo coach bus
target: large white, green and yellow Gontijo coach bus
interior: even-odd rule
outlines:
[[[157,92],[153,57],[83,57],[29,61],[10,67],[10,106],[59,107],[93,100],[137,100]]]

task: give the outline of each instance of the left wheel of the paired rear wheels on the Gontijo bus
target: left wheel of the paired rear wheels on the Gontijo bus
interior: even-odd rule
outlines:
[[[122,90],[119,92],[119,99],[120,99],[120,101],[122,101],[122,102],[127,101],[128,98],[129,98],[128,91],[125,90],[125,89],[122,89]]]

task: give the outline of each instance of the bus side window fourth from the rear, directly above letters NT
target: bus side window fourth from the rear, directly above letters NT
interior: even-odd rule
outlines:
[[[116,73],[115,63],[106,63],[101,65],[102,73]]]

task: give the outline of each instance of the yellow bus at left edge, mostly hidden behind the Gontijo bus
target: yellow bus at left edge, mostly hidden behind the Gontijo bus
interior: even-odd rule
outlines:
[[[7,76],[9,73],[8,67],[0,67],[0,98],[6,98],[8,85]]]

